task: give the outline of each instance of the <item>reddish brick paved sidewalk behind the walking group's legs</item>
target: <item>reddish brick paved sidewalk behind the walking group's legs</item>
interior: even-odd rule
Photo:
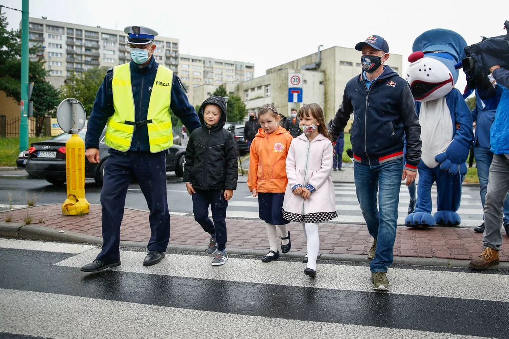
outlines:
[[[91,205],[90,214],[83,216],[62,215],[61,205],[34,206],[25,209],[0,213],[0,220],[10,215],[12,222],[23,222],[26,216],[32,216],[33,222],[40,218],[44,226],[85,233],[100,237],[101,206]],[[150,228],[148,212],[126,209],[121,227],[121,239],[148,241]],[[208,235],[192,217],[172,215],[172,233],[170,243],[199,245],[208,244]],[[227,247],[247,249],[268,249],[265,222],[261,220],[227,219]],[[306,243],[300,224],[290,223],[292,232],[292,251],[306,251]],[[373,239],[364,225],[323,224],[319,229],[320,251],[347,255],[364,255],[371,247]],[[509,239],[503,232],[500,261],[509,262]],[[394,256],[418,258],[443,258],[471,260],[480,255],[483,248],[482,234],[472,229],[430,228],[413,230],[398,227]]]

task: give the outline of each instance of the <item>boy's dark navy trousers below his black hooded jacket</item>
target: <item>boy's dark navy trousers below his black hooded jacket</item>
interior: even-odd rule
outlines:
[[[199,190],[192,194],[192,210],[194,220],[203,227],[205,232],[216,234],[217,249],[223,250],[226,246],[226,208],[228,202],[224,200],[222,190]],[[212,210],[212,220],[209,218],[209,205]]]

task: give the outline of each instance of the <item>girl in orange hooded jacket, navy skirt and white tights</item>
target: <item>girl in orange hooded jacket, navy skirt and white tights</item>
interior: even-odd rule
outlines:
[[[292,143],[292,135],[279,125],[280,116],[272,104],[266,104],[258,111],[262,125],[249,148],[249,171],[247,187],[253,197],[258,196],[260,218],[267,222],[270,251],[262,258],[269,263],[279,258],[276,225],[281,231],[281,251],[286,253],[292,247],[288,220],[282,217],[285,190],[288,185],[286,157]]]

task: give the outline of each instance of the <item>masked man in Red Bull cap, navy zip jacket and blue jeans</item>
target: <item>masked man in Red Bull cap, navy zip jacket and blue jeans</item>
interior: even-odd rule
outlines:
[[[355,49],[362,51],[364,71],[347,83],[331,133],[335,138],[343,132],[355,111],[351,135],[354,177],[357,199],[374,238],[368,253],[368,258],[373,259],[371,281],[374,289],[387,291],[386,272],[392,264],[400,183],[406,179],[408,186],[415,179],[420,160],[420,126],[407,82],[383,65],[389,59],[387,42],[370,36]],[[405,138],[407,153],[403,155]]]

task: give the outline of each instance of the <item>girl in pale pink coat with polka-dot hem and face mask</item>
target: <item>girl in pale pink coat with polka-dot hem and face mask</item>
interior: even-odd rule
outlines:
[[[332,144],[327,134],[322,108],[304,105],[299,110],[299,127],[303,133],[292,140],[286,171],[288,186],[282,215],[302,223],[307,240],[307,266],[304,274],[316,276],[320,240],[318,223],[337,216],[332,170]]]

